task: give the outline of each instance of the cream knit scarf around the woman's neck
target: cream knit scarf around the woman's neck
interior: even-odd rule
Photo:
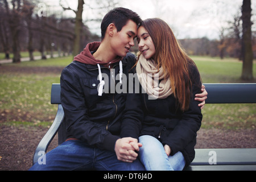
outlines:
[[[150,99],[164,99],[173,93],[170,78],[164,79],[163,68],[156,68],[153,59],[139,56],[136,71],[139,82]]]

